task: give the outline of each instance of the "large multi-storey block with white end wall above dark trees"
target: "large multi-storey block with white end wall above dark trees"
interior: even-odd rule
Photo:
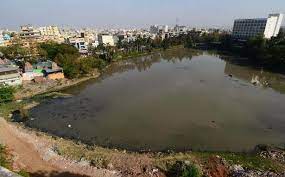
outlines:
[[[233,37],[248,39],[259,35],[266,39],[276,37],[279,33],[283,14],[270,14],[268,18],[238,19],[234,22]]]

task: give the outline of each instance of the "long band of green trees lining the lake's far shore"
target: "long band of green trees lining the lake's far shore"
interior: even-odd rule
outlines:
[[[37,62],[49,59],[63,68],[68,78],[76,78],[92,73],[94,69],[102,70],[113,61],[149,54],[155,50],[168,49],[183,45],[185,48],[217,49],[248,57],[255,64],[271,68],[285,68],[285,34],[264,39],[262,36],[240,42],[227,33],[203,33],[189,31],[187,34],[154,39],[145,36],[133,41],[119,40],[116,46],[89,46],[89,55],[82,57],[79,51],[68,44],[54,42],[37,45],[37,55],[20,45],[1,47],[0,52],[8,59],[23,58],[23,62]],[[20,64],[21,65],[21,64]],[[22,64],[23,65],[23,64]]]

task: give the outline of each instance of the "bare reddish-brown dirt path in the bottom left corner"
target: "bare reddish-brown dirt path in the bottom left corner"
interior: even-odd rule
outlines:
[[[64,175],[64,173],[69,174],[66,176],[76,176],[70,174],[95,177],[119,176],[116,172],[64,159],[51,151],[52,142],[50,140],[10,124],[3,118],[0,118],[0,143],[6,145],[11,151],[16,169],[26,169],[34,174],[40,173],[51,177],[60,176],[58,174]]]

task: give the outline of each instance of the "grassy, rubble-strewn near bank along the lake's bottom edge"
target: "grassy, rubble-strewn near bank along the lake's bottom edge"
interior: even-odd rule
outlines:
[[[197,166],[203,174],[206,174],[208,173],[208,165],[213,163],[209,160],[213,158],[215,159],[214,161],[219,161],[219,163],[220,161],[223,162],[223,168],[227,168],[228,170],[234,170],[233,168],[238,166],[242,167],[245,172],[249,170],[250,173],[267,173],[271,171],[272,173],[274,172],[274,174],[283,175],[285,172],[285,151],[280,149],[263,149],[263,151],[255,152],[254,154],[197,151],[170,151],[168,153],[130,152],[100,146],[88,146],[84,143],[27,128],[20,123],[7,122],[3,118],[0,118],[0,143],[2,143],[3,137],[5,139],[5,133],[3,134],[5,129],[3,130],[3,125],[4,127],[8,127],[9,131],[14,132],[12,135],[14,138],[16,137],[17,142],[15,142],[15,144],[17,146],[20,144],[19,148],[21,148],[23,142],[29,144],[30,154],[35,153],[40,157],[37,163],[49,164],[48,166],[43,165],[44,167],[40,168],[57,171],[58,173],[70,172],[72,174],[87,176],[98,176],[94,175],[98,173],[111,175],[107,175],[106,177],[131,177],[140,176],[139,174],[149,174],[148,176],[165,177],[163,174],[167,174],[172,165],[179,162],[193,164]],[[6,145],[9,147],[8,143],[6,143]],[[14,150],[19,151],[19,149]],[[278,152],[277,155],[276,152]],[[21,158],[19,158],[20,153],[17,152],[16,154],[18,154],[16,159],[21,160]],[[27,161],[24,161],[24,163],[25,162]],[[34,159],[31,159],[29,163],[34,164]],[[31,166],[28,165],[28,168],[25,165],[22,166],[22,168],[32,174],[35,174],[36,172],[34,170],[39,168],[38,165],[32,168],[32,170],[29,169],[29,167]]]

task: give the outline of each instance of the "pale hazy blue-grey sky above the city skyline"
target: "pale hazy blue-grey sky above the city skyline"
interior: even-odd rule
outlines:
[[[285,0],[1,0],[0,27],[23,24],[231,27],[235,18],[285,13]],[[284,23],[283,23],[284,24]]]

